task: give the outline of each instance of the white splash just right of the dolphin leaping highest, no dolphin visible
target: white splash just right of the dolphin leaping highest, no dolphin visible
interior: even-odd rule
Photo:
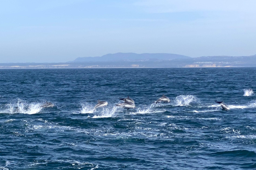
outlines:
[[[174,101],[174,106],[189,106],[192,102],[199,102],[199,99],[194,95],[180,95],[177,96]]]

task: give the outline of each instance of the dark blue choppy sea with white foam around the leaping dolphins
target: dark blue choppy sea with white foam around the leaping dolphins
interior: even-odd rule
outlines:
[[[256,169],[255,80],[256,68],[0,69],[0,169]],[[136,109],[115,106],[128,95]]]

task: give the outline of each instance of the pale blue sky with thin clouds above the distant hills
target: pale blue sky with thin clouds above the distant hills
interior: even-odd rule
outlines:
[[[0,0],[0,63],[256,54],[255,0]]]

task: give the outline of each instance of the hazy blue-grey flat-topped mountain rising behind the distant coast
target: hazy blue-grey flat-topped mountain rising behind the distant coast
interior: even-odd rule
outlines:
[[[173,60],[191,58],[185,55],[169,54],[169,53],[122,53],[106,54],[101,57],[78,57],[70,62],[95,62],[95,61],[139,61],[139,60]]]

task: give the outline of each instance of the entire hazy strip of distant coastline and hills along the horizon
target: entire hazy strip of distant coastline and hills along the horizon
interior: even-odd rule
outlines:
[[[60,63],[0,63],[0,68],[256,67],[256,55],[189,57],[170,53],[114,53]]]

